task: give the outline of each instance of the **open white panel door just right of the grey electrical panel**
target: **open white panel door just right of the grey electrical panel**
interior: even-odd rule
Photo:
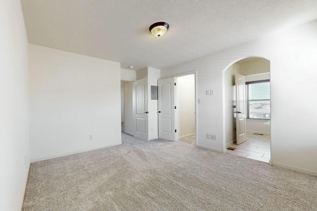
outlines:
[[[159,138],[176,141],[174,78],[158,81]]]

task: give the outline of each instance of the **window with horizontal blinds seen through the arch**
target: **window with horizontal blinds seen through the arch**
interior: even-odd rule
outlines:
[[[247,118],[270,119],[269,80],[246,82]]]

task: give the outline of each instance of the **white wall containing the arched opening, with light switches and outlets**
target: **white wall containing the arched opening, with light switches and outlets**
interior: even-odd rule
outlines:
[[[161,70],[161,78],[197,70],[198,146],[225,151],[224,74],[250,57],[270,61],[271,163],[317,175],[317,21]],[[214,95],[205,91],[214,89]],[[212,97],[208,97],[212,96]],[[296,99],[296,101],[294,100]],[[303,102],[305,109],[303,109]],[[295,117],[296,115],[296,117]],[[206,138],[216,134],[217,140]]]

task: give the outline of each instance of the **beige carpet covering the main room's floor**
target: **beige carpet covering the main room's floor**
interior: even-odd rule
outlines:
[[[22,210],[317,210],[315,176],[182,141],[122,140],[32,163]]]

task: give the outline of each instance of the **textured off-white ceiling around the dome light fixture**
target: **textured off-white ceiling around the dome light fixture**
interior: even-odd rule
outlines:
[[[164,68],[317,19],[317,0],[21,0],[30,43]],[[154,37],[149,27],[169,24]]]

